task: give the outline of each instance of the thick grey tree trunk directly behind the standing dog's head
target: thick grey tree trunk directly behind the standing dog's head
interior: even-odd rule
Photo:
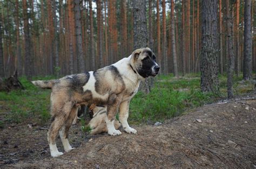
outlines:
[[[146,23],[146,2],[144,0],[133,0],[133,32],[134,46],[133,49],[147,46],[147,23]],[[149,93],[152,87],[152,79],[148,78],[145,82],[140,83],[140,89],[144,93]]]

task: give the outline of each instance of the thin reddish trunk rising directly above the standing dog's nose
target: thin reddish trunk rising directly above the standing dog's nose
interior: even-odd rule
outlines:
[[[159,66],[161,67],[161,63],[162,63],[162,57],[161,57],[161,39],[160,39],[160,12],[159,12],[159,0],[157,0],[157,57],[159,58]],[[135,35],[135,32],[134,32]],[[160,72],[161,71],[160,69]]]

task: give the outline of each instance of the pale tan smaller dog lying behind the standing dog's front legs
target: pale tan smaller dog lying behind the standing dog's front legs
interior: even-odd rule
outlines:
[[[95,104],[90,105],[89,108],[92,111],[92,119],[89,123],[91,128],[91,135],[97,135],[102,132],[107,132],[107,126],[105,123],[106,119],[106,107],[97,106]],[[120,122],[117,119],[114,119],[114,128],[118,129],[121,126]]]

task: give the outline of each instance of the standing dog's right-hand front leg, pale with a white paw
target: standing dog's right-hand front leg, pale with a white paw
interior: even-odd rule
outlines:
[[[119,121],[121,122],[125,132],[136,133],[137,130],[131,128],[127,122],[127,119],[129,117],[129,105],[130,105],[130,101],[124,101],[124,102],[120,103]]]

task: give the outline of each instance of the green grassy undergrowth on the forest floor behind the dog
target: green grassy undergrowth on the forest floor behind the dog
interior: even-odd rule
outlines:
[[[55,79],[54,76],[37,77],[33,80]],[[0,120],[0,127],[6,121],[31,122],[44,124],[50,119],[51,90],[39,89],[25,78],[20,79],[25,90],[9,93],[0,92],[0,112],[9,112]],[[187,74],[174,78],[172,74],[159,75],[149,94],[139,91],[130,103],[129,121],[131,124],[152,124],[182,115],[183,112],[226,98],[226,76],[219,76],[220,93],[202,93],[200,91],[200,74]],[[242,75],[234,76],[234,94],[239,95],[254,89],[253,82],[242,81]],[[89,130],[87,128],[83,130]]]

